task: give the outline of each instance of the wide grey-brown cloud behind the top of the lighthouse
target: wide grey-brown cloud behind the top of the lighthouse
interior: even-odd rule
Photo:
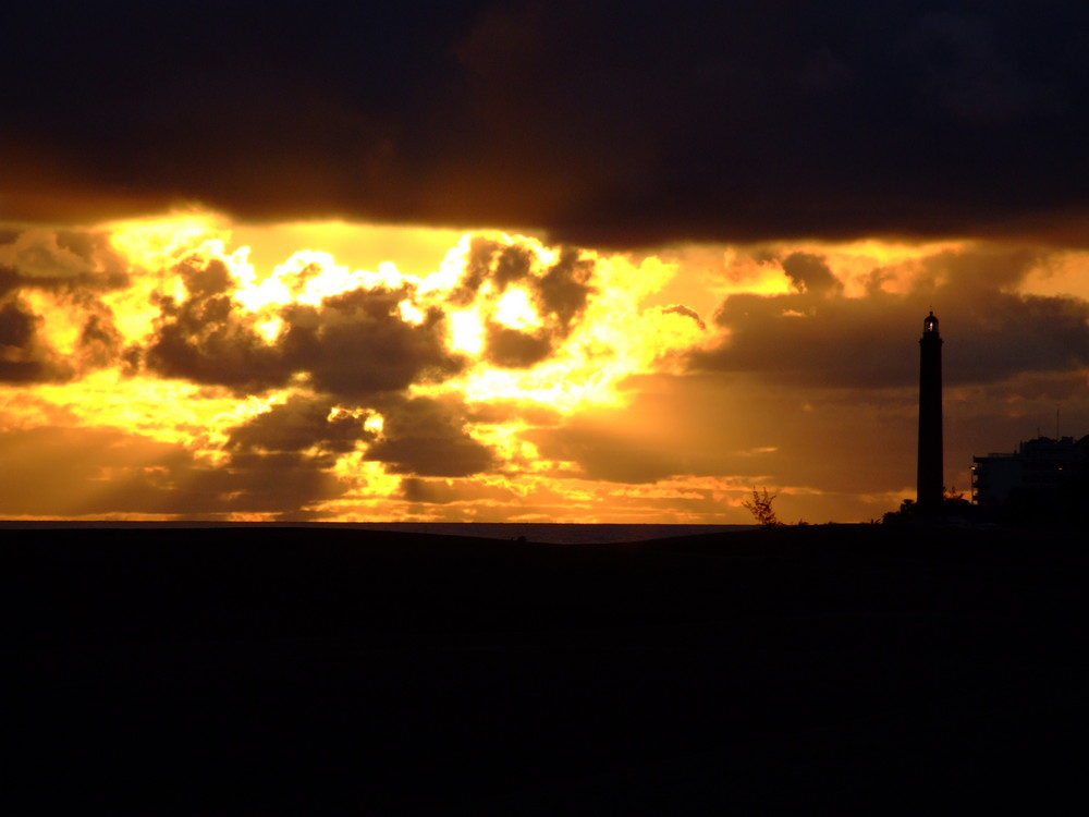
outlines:
[[[918,377],[913,334],[921,332],[930,306],[946,339],[949,383],[1089,365],[1089,303],[1010,291],[1038,259],[1032,252],[941,254],[925,263],[917,291],[849,298],[829,283],[819,257],[791,258],[791,277],[805,291],[726,298],[715,320],[729,336],[717,349],[692,355],[696,369],[758,373],[798,386],[908,386]],[[810,283],[815,277],[819,286]]]

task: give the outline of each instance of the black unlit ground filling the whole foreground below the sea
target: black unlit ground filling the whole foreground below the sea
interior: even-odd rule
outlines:
[[[0,812],[1082,814],[1089,551],[0,532]]]

